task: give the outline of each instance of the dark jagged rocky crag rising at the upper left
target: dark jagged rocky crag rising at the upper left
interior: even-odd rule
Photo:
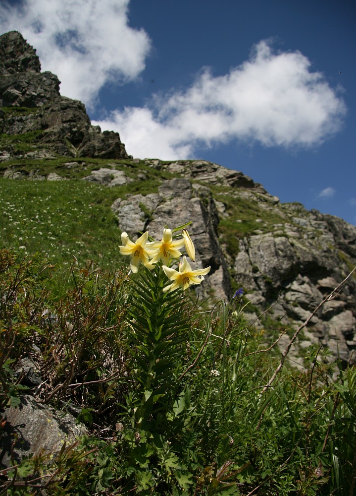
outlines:
[[[84,105],[60,96],[59,84],[57,76],[41,72],[36,51],[20,33],[0,36],[0,133],[38,131],[42,156],[128,158],[119,134],[92,126]],[[12,146],[1,148],[6,160],[27,157]]]

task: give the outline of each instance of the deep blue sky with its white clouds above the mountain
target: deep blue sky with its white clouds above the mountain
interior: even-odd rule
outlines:
[[[0,31],[134,157],[204,159],[356,224],[354,0],[16,0]]]

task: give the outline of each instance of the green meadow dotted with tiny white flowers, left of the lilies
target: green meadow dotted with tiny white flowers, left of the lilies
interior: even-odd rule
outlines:
[[[110,205],[117,192],[78,181],[0,179],[0,246],[40,252],[58,263],[116,256],[120,231]]]

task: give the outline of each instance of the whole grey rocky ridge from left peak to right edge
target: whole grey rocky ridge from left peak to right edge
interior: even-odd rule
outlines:
[[[116,188],[112,211],[133,237],[149,229],[160,238],[164,225],[193,221],[196,263],[211,266],[204,296],[229,300],[242,287],[250,321],[272,306],[257,320],[259,327],[292,331],[356,265],[355,226],[299,203],[282,204],[243,173],[216,164],[133,160],[117,133],[91,126],[83,104],[59,95],[58,79],[41,73],[35,51],[19,33],[0,37],[0,59],[4,176],[53,179],[44,166],[39,176],[38,159],[62,157],[63,167],[83,168],[86,181]],[[110,160],[90,168],[88,160],[67,157]],[[153,177],[158,186],[150,189]],[[129,183],[135,194],[120,189]],[[354,273],[313,316],[293,359],[300,361],[310,343],[319,343],[344,365],[354,361],[355,317]]]

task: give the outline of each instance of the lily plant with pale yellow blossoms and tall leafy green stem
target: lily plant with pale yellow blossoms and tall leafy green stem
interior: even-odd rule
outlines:
[[[130,400],[130,411],[135,412],[131,427],[145,432],[159,429],[158,412],[171,415],[181,393],[177,390],[181,371],[174,377],[173,368],[184,354],[183,343],[186,345],[191,327],[185,290],[201,284],[210,270],[192,269],[187,256],[195,260],[195,248],[185,227],[163,228],[160,241],[150,239],[148,231],[135,242],[127,233],[121,235],[120,253],[131,257],[135,275],[127,299],[130,368],[137,371]]]

